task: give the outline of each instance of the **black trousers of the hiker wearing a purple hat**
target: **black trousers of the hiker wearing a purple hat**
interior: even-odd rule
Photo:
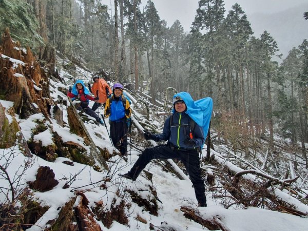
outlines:
[[[110,137],[114,147],[116,147],[122,156],[127,156],[127,132],[128,127],[127,123],[120,122],[112,122],[110,123]]]

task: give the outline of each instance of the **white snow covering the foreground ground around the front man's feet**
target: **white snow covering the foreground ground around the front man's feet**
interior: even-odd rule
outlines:
[[[59,92],[57,92],[59,93]],[[8,108],[12,105],[11,102],[0,101],[0,103]],[[7,115],[8,116],[8,115]],[[9,117],[9,116],[8,116]],[[33,120],[40,119],[42,115],[33,116],[27,120],[20,120],[20,125],[22,132],[26,138],[29,138],[30,129],[33,128]],[[62,136],[66,141],[78,141],[78,138],[73,134],[69,133],[67,127],[60,127],[57,124],[52,122],[56,131]],[[100,147],[108,147],[110,151],[113,150],[113,147],[109,141],[106,128],[104,126],[97,126],[93,123],[86,124],[91,136],[94,139],[94,142]],[[95,132],[100,133],[103,139],[98,139],[95,136]],[[50,142],[49,136],[38,136],[37,139],[41,139],[43,142]],[[79,141],[78,141],[79,142]],[[14,152],[18,154],[16,149]],[[10,153],[10,149],[0,149],[1,156],[7,156]],[[97,172],[94,171],[91,167],[85,166],[83,164],[74,163],[74,166],[69,166],[63,164],[65,158],[57,158],[54,163],[47,162],[41,158],[33,157],[34,161],[33,166],[26,171],[23,181],[33,181],[35,180],[35,175],[37,168],[39,166],[49,166],[53,169],[55,173],[55,178],[60,182],[56,187],[47,192],[35,192],[34,196],[38,201],[41,201],[43,205],[50,206],[49,210],[43,215],[43,217],[37,221],[38,226],[32,226],[27,230],[41,230],[39,226],[45,226],[46,222],[51,219],[55,219],[59,213],[58,208],[63,206],[65,202],[73,196],[74,188],[78,187],[79,190],[84,190],[85,195],[90,201],[89,206],[94,206],[95,202],[102,200],[104,204],[110,203],[112,195],[115,190],[117,190],[119,184],[122,187],[128,187],[132,189],[144,189],[145,194],[147,193],[147,188],[145,185],[151,184],[144,177],[140,176],[136,182],[130,180],[122,179],[117,176],[119,172],[126,172],[130,169],[132,164],[138,158],[138,151],[131,149],[131,156],[128,157],[128,163],[126,163],[120,157],[114,157],[113,161],[118,162],[118,165],[114,165],[111,172],[115,172],[113,179],[109,182],[108,192],[106,190],[100,189],[99,183],[92,184],[93,182],[101,181],[106,177],[106,172]],[[9,172],[13,176],[18,166],[23,166],[24,161],[27,158],[23,155],[15,155],[9,166]],[[0,164],[4,164],[4,158],[1,158]],[[131,163],[129,163],[131,162]],[[161,201],[159,202],[159,215],[153,216],[150,215],[147,211],[143,211],[142,207],[137,206],[132,203],[132,206],[127,210],[129,214],[129,225],[124,226],[118,222],[113,222],[111,228],[108,230],[149,230],[149,223],[153,225],[160,226],[162,222],[167,222],[169,226],[176,227],[177,230],[204,230],[206,228],[202,227],[200,224],[195,223],[184,218],[182,211],[180,211],[180,206],[196,206],[196,199],[194,188],[191,187],[191,182],[189,180],[179,180],[172,174],[164,172],[160,167],[155,164],[149,164],[146,167],[146,170],[149,170],[153,174],[152,185],[156,188],[158,193],[158,198]],[[63,189],[63,185],[70,179],[72,176],[77,176],[76,180],[70,185],[69,188]],[[6,185],[7,182],[3,179],[0,179],[1,185]],[[89,185],[89,186],[85,186]],[[61,196],[60,196],[61,195]],[[109,197],[108,197],[109,195]],[[204,218],[210,218],[213,216],[219,215],[222,222],[230,230],[236,231],[246,231],[246,230],[308,230],[308,219],[301,218],[293,215],[279,213],[277,211],[270,211],[260,208],[248,208],[240,210],[224,209],[216,201],[211,199],[211,194],[208,193],[208,207],[199,208],[200,214]],[[0,200],[4,200],[4,195],[0,194]],[[109,201],[109,202],[108,202]],[[307,209],[308,211],[308,209]],[[134,219],[140,215],[147,220],[147,224],[136,221]],[[107,230],[102,222],[98,221],[103,230]],[[165,224],[165,226],[168,226]]]

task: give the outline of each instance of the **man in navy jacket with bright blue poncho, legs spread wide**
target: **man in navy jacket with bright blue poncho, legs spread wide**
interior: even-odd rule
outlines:
[[[180,92],[174,95],[173,104],[174,110],[166,119],[162,133],[144,132],[146,140],[165,140],[167,144],[146,148],[130,171],[120,176],[135,181],[152,159],[180,159],[194,185],[198,205],[206,207],[199,151],[204,144],[204,134],[207,134],[213,101],[205,98],[194,102],[189,93]],[[191,123],[194,123],[194,129],[191,129]]]

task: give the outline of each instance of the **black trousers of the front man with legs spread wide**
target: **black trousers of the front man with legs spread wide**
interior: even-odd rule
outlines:
[[[128,172],[132,180],[137,179],[141,171],[152,159],[181,160],[189,174],[192,185],[194,185],[197,201],[200,204],[206,202],[204,180],[201,178],[199,153],[196,150],[177,150],[176,148],[173,150],[168,144],[146,148]]]

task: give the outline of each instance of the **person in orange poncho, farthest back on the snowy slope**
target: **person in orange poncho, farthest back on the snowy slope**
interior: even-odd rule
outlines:
[[[94,83],[91,88],[89,87],[89,89],[91,89],[91,92],[92,94],[94,94],[94,97],[99,97],[99,100],[95,101],[91,108],[93,111],[95,111],[102,104],[105,107],[106,101],[110,97],[112,90],[104,79],[100,79],[98,74],[94,74],[92,79]]]

